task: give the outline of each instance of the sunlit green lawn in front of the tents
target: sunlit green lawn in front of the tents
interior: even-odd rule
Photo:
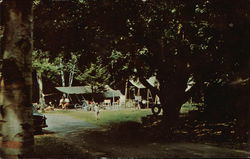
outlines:
[[[152,114],[150,109],[101,110],[99,114],[100,119],[96,120],[95,113],[93,111],[57,110],[50,111],[48,113],[72,116],[99,126],[108,126],[110,124],[127,121],[141,122],[141,117]]]

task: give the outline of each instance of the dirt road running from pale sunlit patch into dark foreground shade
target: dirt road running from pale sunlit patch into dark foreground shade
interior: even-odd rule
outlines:
[[[131,135],[114,136],[112,132],[66,115],[46,114],[53,131],[65,141],[88,149],[93,157],[250,157],[250,152],[188,142],[150,142]],[[128,132],[129,133],[129,132]],[[133,136],[133,134],[132,134]]]

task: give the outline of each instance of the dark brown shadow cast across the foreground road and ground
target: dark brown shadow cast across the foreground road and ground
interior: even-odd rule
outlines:
[[[221,135],[215,140],[209,133],[203,136],[188,134],[185,130],[173,130],[171,135],[159,132],[159,127],[145,127],[140,123],[113,124],[107,129],[92,129],[75,134],[85,146],[107,157],[248,157],[249,144],[232,143]],[[204,129],[197,126],[192,131]],[[212,127],[213,131],[215,130]],[[182,131],[185,131],[184,133]],[[191,128],[190,128],[191,131]],[[212,130],[211,130],[212,131]],[[193,136],[192,136],[193,135]],[[230,136],[228,136],[230,137]],[[225,139],[225,140],[224,140]],[[237,150],[241,149],[241,150]]]

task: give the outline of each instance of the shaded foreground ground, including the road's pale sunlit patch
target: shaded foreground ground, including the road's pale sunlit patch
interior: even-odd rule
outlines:
[[[35,153],[39,158],[83,157],[249,157],[249,143],[224,140],[223,134],[196,123],[196,129],[173,130],[171,137],[158,131],[157,122],[142,125],[134,122],[99,128],[65,115],[49,115],[54,125],[36,136]],[[56,120],[56,121],[55,121]],[[194,122],[195,123],[195,122]],[[198,125],[198,126],[197,126]],[[219,124],[221,125],[221,124]],[[52,127],[51,127],[52,126]],[[219,128],[221,128],[219,126]],[[189,134],[192,131],[207,132]],[[205,129],[204,131],[202,131]],[[202,134],[199,136],[199,134]],[[217,136],[214,138],[214,134]],[[210,136],[210,137],[209,137]],[[211,137],[212,136],[212,137]],[[215,140],[215,139],[218,140]],[[220,140],[219,140],[220,139]]]

